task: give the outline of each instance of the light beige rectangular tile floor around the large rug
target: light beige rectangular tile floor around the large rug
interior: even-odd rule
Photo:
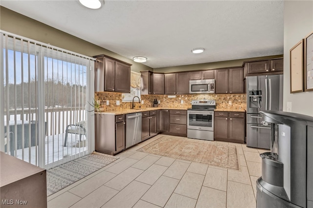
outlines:
[[[240,171],[137,151],[161,136],[47,197],[48,208],[256,207],[259,154],[267,150],[229,143],[238,147]]]

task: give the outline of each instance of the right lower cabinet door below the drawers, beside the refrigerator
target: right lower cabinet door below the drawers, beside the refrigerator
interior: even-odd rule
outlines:
[[[230,140],[240,140],[245,142],[245,119],[243,118],[229,118],[229,132],[228,138]]]

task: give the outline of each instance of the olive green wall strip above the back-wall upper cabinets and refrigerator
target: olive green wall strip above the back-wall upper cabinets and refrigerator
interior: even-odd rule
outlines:
[[[191,65],[182,65],[182,66],[171,66],[164,68],[155,68],[154,72],[159,73],[169,73],[169,72],[179,72],[179,71],[193,71],[193,70],[202,70],[202,69],[216,69],[216,68],[227,68],[233,66],[242,66],[243,62],[251,61],[251,60],[261,60],[261,59],[274,59],[274,58],[282,58],[283,55],[277,56],[267,56],[267,57],[257,57],[250,59],[238,59],[224,62],[210,62],[210,63],[199,63],[199,64],[191,64]]]

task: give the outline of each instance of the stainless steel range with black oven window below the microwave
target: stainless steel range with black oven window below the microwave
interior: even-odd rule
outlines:
[[[191,101],[187,110],[187,137],[192,139],[214,140],[214,100]]]

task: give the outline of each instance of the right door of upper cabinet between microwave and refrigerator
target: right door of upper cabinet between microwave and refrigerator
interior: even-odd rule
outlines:
[[[244,70],[243,68],[229,69],[228,93],[244,93]]]

